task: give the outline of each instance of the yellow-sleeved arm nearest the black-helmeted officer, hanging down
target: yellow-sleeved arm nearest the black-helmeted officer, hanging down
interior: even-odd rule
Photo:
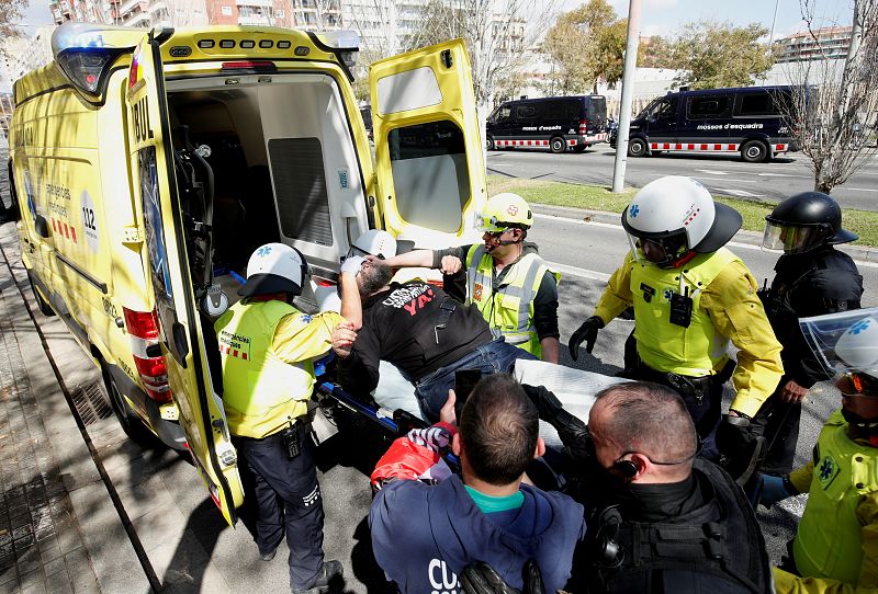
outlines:
[[[756,297],[756,279],[741,262],[732,262],[705,289],[701,307],[720,334],[740,350],[732,376],[731,409],[754,416],[775,391],[784,365],[765,309]]]

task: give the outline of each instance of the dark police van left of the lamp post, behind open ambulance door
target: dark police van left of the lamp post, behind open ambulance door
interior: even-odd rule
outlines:
[[[507,101],[491,113],[485,127],[488,150],[582,152],[607,140],[607,100],[603,95],[576,95]]]

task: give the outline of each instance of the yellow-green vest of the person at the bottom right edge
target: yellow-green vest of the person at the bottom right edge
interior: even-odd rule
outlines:
[[[878,490],[878,450],[847,436],[835,411],[814,447],[814,473],[808,503],[792,542],[796,568],[804,578],[856,584],[863,564],[863,526],[857,504]]]

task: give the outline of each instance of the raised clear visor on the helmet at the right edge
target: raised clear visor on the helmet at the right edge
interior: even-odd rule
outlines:
[[[799,325],[811,351],[836,380],[853,374],[878,378],[878,308],[802,318]]]

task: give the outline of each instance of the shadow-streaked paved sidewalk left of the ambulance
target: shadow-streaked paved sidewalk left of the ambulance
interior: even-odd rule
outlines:
[[[14,331],[26,310],[4,259],[0,288],[0,592],[100,592],[42,419],[69,411],[34,396]]]

